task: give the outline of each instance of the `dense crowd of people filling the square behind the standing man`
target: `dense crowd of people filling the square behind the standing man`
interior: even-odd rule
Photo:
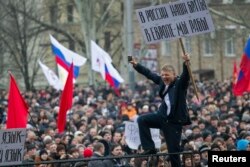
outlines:
[[[191,124],[183,126],[181,134],[184,167],[207,166],[208,150],[250,151],[250,98],[232,94],[231,80],[196,82],[200,99],[194,89],[188,88],[187,104]],[[46,89],[23,92],[29,106],[24,163],[50,160],[123,156],[142,152],[130,149],[124,136],[124,121],[134,121],[138,116],[156,112],[161,98],[158,89],[148,80],[136,83],[135,89],[121,85],[120,96],[112,88],[99,85],[75,85],[73,107],[67,113],[63,134],[57,133],[60,92]],[[5,129],[8,92],[1,90],[0,123]],[[165,138],[157,152],[168,152]],[[169,157],[160,157],[157,166],[170,166]],[[40,164],[46,166],[107,166],[146,167],[148,158],[106,159],[89,162],[64,162]]]

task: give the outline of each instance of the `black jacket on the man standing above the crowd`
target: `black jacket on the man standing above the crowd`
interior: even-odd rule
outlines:
[[[164,84],[161,76],[151,72],[146,67],[141,64],[137,64],[134,66],[135,70],[140,74],[144,75],[148,79],[152,80],[155,84],[159,86],[159,95],[162,99],[161,105],[159,107],[158,112],[162,114],[164,117],[168,119],[169,122],[181,124],[181,125],[189,125],[191,124],[187,103],[186,103],[186,95],[187,89],[189,85],[189,73],[187,66],[183,63],[183,72],[180,76],[177,76],[173,82],[170,83],[168,90],[163,94],[166,85]],[[169,94],[171,111],[168,116],[166,116],[167,105],[164,101],[164,96]]]

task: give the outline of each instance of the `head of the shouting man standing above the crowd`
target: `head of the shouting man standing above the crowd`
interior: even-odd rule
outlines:
[[[175,79],[175,70],[171,65],[164,65],[161,68],[161,78],[163,82],[168,85]]]

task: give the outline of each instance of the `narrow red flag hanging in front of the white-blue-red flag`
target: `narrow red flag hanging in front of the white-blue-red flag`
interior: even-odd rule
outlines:
[[[73,98],[73,63],[70,66],[69,74],[61,96],[60,109],[57,120],[58,133],[62,133],[64,131],[66,125],[67,111],[72,106],[72,98]]]

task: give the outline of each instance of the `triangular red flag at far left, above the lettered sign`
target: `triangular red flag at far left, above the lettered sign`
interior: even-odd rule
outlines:
[[[7,129],[26,128],[28,106],[25,103],[16,81],[10,74],[10,86],[8,97]]]

